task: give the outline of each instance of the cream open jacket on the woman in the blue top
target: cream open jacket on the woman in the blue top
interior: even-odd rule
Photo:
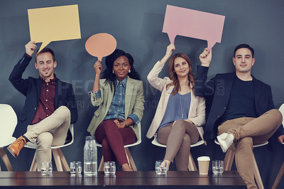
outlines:
[[[158,77],[163,67],[164,67],[163,63],[160,63],[160,61],[158,61],[157,63],[155,63],[153,69],[151,70],[151,72],[149,72],[147,76],[147,80],[150,82],[150,84],[155,89],[160,90],[160,92],[162,92],[162,95],[160,95],[160,101],[158,107],[155,111],[155,116],[146,135],[149,139],[151,139],[154,136],[154,134],[158,130],[158,127],[160,126],[160,123],[165,115],[165,109],[167,108],[168,105],[168,99],[174,87],[172,85],[168,87],[167,90],[166,86],[168,85],[168,83],[173,81],[170,80],[169,77],[164,77],[163,79]],[[188,113],[188,117],[187,119],[185,119],[185,121],[189,120],[192,121],[192,123],[195,124],[195,126],[197,126],[197,129],[200,133],[200,137],[203,139],[204,131],[202,125],[205,124],[205,100],[204,97],[195,96],[193,91],[191,91],[190,94],[191,94],[190,112]]]

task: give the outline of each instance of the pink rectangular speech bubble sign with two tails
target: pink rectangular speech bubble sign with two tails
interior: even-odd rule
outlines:
[[[209,50],[221,43],[225,16],[167,5],[163,33],[168,33],[170,43],[175,36],[186,36],[207,41]]]

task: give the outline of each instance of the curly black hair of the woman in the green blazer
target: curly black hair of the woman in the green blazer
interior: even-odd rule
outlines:
[[[111,85],[111,91],[114,90],[115,82],[116,82],[116,75],[112,72],[112,68],[114,66],[114,60],[116,58],[119,58],[121,56],[126,56],[126,58],[129,59],[129,64],[131,65],[131,72],[128,74],[130,78],[134,80],[141,80],[140,75],[138,72],[136,72],[135,68],[133,67],[133,57],[129,53],[125,53],[124,50],[116,49],[114,50],[114,53],[111,53],[106,57],[106,65],[107,69],[102,72],[102,78],[106,79],[105,83],[109,82],[109,85]]]

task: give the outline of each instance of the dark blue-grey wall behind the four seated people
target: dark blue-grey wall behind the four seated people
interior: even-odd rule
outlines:
[[[83,161],[84,136],[88,134],[86,129],[94,112],[94,108],[89,104],[87,92],[92,89],[92,65],[96,59],[86,52],[84,43],[89,36],[102,32],[111,33],[116,38],[117,48],[133,55],[135,68],[141,74],[144,83],[146,109],[142,120],[142,144],[131,148],[136,166],[140,171],[154,170],[154,161],[163,158],[165,149],[153,146],[151,140],[146,138],[160,97],[160,92],[154,90],[146,81],[146,76],[154,63],[163,57],[169,43],[167,34],[162,33],[167,4],[226,16],[222,43],[217,43],[213,48],[209,77],[217,72],[233,71],[231,58],[234,47],[239,43],[249,43],[256,51],[253,75],[271,85],[277,108],[284,101],[282,0],[0,0],[0,103],[11,104],[18,115],[25,98],[13,88],[8,77],[13,65],[23,55],[24,45],[30,41],[27,9],[70,4],[79,5],[82,39],[52,42],[48,45],[55,50],[57,56],[56,74],[61,80],[70,82],[75,87],[79,110],[79,119],[75,124],[75,142],[72,146],[63,148],[68,162]],[[207,42],[178,36],[175,39],[175,46],[176,52],[189,55],[196,70],[196,65],[200,64],[198,56],[207,46]],[[38,77],[33,61],[23,77]],[[164,69],[161,75],[166,74],[167,69]],[[276,141],[272,144],[273,151],[268,151],[266,147],[254,150],[266,188],[271,187],[284,159],[284,146]],[[17,159],[9,155],[13,168],[16,171],[28,171],[33,153],[33,150],[24,148]],[[99,149],[99,157],[101,154]],[[207,146],[192,148],[192,155],[195,159],[202,155],[208,155],[212,159],[224,158],[221,148],[212,142]],[[1,166],[3,167],[2,162]],[[175,170],[175,165],[171,166],[171,169]],[[280,182],[280,186],[283,185],[284,179]]]

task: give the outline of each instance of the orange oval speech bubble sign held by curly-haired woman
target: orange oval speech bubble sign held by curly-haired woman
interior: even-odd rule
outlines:
[[[116,39],[109,33],[97,33],[89,37],[85,48],[90,55],[102,60],[104,56],[110,55],[116,49]]]

